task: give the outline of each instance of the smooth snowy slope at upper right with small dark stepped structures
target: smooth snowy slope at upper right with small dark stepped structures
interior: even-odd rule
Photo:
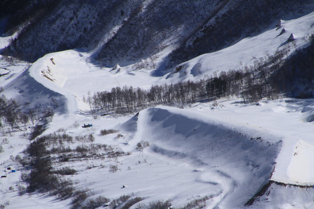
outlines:
[[[167,78],[171,80],[199,80],[205,75],[221,71],[243,69],[245,65],[254,65],[254,61],[276,53],[276,50],[289,48],[293,52],[308,43],[309,35],[314,32],[314,12],[299,18],[281,20],[281,28],[275,27],[276,22],[261,34],[247,37],[225,49],[200,55],[192,60],[178,65]],[[285,33],[280,35],[282,29]],[[290,34],[294,34],[295,41],[288,42]],[[289,54],[290,54],[289,53]],[[178,71],[177,69],[180,69]]]

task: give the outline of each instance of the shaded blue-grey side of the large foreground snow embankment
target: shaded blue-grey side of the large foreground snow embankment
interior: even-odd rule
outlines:
[[[221,185],[219,208],[243,206],[261,189],[282,144],[278,137],[221,118],[164,106],[139,113],[134,138],[148,140],[154,152],[188,159],[205,171],[196,181]]]

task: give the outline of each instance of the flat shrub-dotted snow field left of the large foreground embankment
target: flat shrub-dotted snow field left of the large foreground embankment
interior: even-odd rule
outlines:
[[[121,121],[121,118],[116,122],[118,121]],[[89,123],[90,121],[86,122]],[[118,147],[121,147],[123,150],[132,150],[134,153],[118,157],[117,159],[85,159],[84,161],[65,162],[62,164],[58,163],[54,166],[54,169],[69,166],[70,168],[78,170],[78,175],[65,177],[69,177],[74,182],[77,181],[78,184],[75,185],[76,187],[88,187],[95,194],[95,196],[92,196],[91,198],[103,195],[112,200],[113,198],[118,198],[122,194],[133,194],[133,196],[141,196],[145,199],[141,203],[148,204],[150,201],[159,199],[166,200],[170,198],[175,201],[176,206],[182,206],[182,204],[188,202],[187,199],[191,200],[206,195],[215,197],[221,193],[220,186],[203,182],[206,178],[202,176],[199,177],[200,174],[193,171],[197,168],[190,163],[182,160],[169,161],[167,157],[160,156],[159,154],[152,152],[149,148],[145,148],[143,156],[141,154],[138,157],[138,151],[134,150],[134,146],[126,144],[126,141],[130,140],[127,140],[127,135],[126,137],[116,139],[116,134],[106,136],[100,136],[100,134],[98,134],[100,128],[106,124],[106,119],[101,120],[101,127],[98,126],[97,120],[94,120],[93,124],[93,128],[71,128],[66,130],[66,132],[73,136],[93,133],[95,136],[94,143],[106,143],[108,145],[117,144]],[[111,120],[111,125],[112,124],[114,123]],[[51,123],[50,128],[44,134],[51,132],[55,125],[57,124]],[[14,141],[20,141],[20,137],[12,136],[8,137],[8,140],[12,143]],[[135,144],[137,140],[138,139],[134,138],[131,144]],[[18,169],[17,173],[10,173],[7,178],[1,179],[1,186],[3,188],[2,200],[10,200],[11,202],[10,205],[6,207],[17,208],[20,203],[19,199],[21,198],[26,208],[27,206],[30,208],[34,206],[34,204],[30,204],[30,202],[45,208],[57,208],[67,205],[70,200],[60,202],[53,197],[47,195],[38,196],[37,194],[32,194],[30,196],[26,194],[20,197],[17,195],[17,191],[7,192],[10,186],[13,186],[14,189],[17,190],[15,185],[19,182],[19,175],[23,171],[20,165],[17,165],[9,159],[9,155],[21,155],[20,151],[23,150],[27,143],[28,140],[24,139],[21,148],[16,149],[15,153],[8,152],[9,150],[7,147],[4,147],[4,155],[1,154],[1,159],[5,162],[7,167],[11,166]],[[69,146],[75,148],[79,144],[82,143],[76,142],[74,144],[69,144]],[[64,146],[68,146],[68,144],[65,143]],[[110,165],[117,165],[119,171],[110,173]],[[131,169],[128,170],[128,167]],[[181,178],[178,179],[178,176]],[[160,184],[160,182],[163,183]],[[123,185],[126,187],[122,188]],[[208,192],[209,188],[211,189]]]

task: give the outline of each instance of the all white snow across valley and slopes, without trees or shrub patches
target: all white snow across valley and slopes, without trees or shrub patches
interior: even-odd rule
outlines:
[[[303,47],[308,34],[313,32],[313,16],[314,12],[284,20],[282,28],[287,32],[281,36],[276,37],[280,29],[272,27],[218,52],[189,60],[181,64],[185,67],[178,73],[162,77],[151,76],[147,69],[135,70],[134,66],[120,67],[119,72],[100,68],[89,63],[90,53],[76,49],[47,54],[30,67],[27,63],[8,65],[1,59],[1,73],[11,71],[0,77],[2,94],[30,105],[48,103],[54,98],[58,112],[44,134],[59,128],[65,128],[72,136],[93,133],[93,143],[113,144],[125,152],[133,152],[116,159],[56,165],[56,169],[70,166],[78,170],[77,175],[69,178],[78,180],[77,187],[88,187],[94,192],[90,198],[103,195],[112,200],[133,194],[144,198],[140,203],[171,199],[173,206],[179,207],[208,196],[206,209],[243,208],[270,179],[292,186],[273,185],[266,197],[269,199],[264,198],[252,208],[314,208],[314,189],[296,186],[314,185],[313,99],[284,98],[243,104],[241,99],[229,98],[219,100],[217,107],[210,102],[195,103],[184,109],[158,106],[142,110],[137,116],[120,117],[93,117],[82,101],[88,91],[93,94],[124,85],[147,89],[156,84],[196,81],[214,72],[251,65],[266,52],[272,54],[283,47],[291,33],[297,39],[290,44],[291,50],[295,50]],[[6,44],[8,37],[0,39],[0,43]],[[75,122],[92,123],[93,127],[75,127]],[[101,129],[109,128],[119,128],[123,136],[99,134]],[[18,195],[23,168],[10,155],[23,155],[29,140],[22,137],[25,131],[5,133],[9,132],[7,128],[2,131],[0,143],[4,138],[9,143],[2,144],[1,168],[11,166],[17,172],[0,179],[0,204],[10,201],[7,209],[69,208],[70,199],[58,201],[37,193]],[[141,140],[151,144],[143,153],[135,148]],[[120,170],[111,173],[110,165],[118,165]]]

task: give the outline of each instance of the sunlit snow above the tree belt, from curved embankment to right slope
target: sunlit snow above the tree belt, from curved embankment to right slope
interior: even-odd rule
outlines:
[[[81,52],[80,50],[67,50],[47,54],[32,64],[29,71],[32,72],[31,76],[37,76],[40,80],[36,80],[48,89],[62,95],[72,95],[71,98],[74,96],[77,97],[79,100],[78,106],[73,107],[74,109],[86,110],[89,107],[86,103],[82,102],[82,97],[83,95],[87,97],[88,91],[93,94],[97,91],[110,91],[115,86],[122,88],[124,85],[148,89],[151,85],[156,84],[170,84],[187,80],[198,81],[205,76],[212,76],[214,73],[219,74],[221,71],[242,69],[244,66],[249,65],[253,66],[254,61],[259,60],[261,57],[263,58],[267,53],[272,55],[276,53],[276,50],[282,50],[285,47],[289,49],[287,57],[308,43],[309,34],[312,31],[313,17],[314,13],[312,12],[297,19],[282,21],[282,28],[286,28],[286,33],[282,35],[279,35],[280,30],[276,30],[272,25],[262,34],[243,39],[223,50],[188,60],[178,65],[172,72],[160,77],[154,76],[150,69],[137,69],[137,65],[124,67],[117,65],[117,68],[100,67],[90,63],[89,57],[92,52]],[[295,34],[296,40],[292,43],[287,43],[290,33]],[[3,44],[3,46],[5,45]],[[53,59],[53,61],[50,59]],[[3,76],[0,80],[6,79],[9,76],[10,74]],[[86,76],[90,79],[86,79]],[[2,81],[3,87],[8,83],[8,80],[4,81]],[[20,93],[15,94],[22,97],[30,97],[29,100],[32,100],[32,96],[29,96],[30,91],[24,89],[27,86],[26,84],[18,84],[18,81],[12,83],[15,84],[10,92],[14,90],[17,92],[19,90]],[[28,85],[31,86],[31,83],[29,82]],[[84,85],[78,85],[82,83]],[[10,85],[12,86],[12,84]],[[26,94],[23,94],[23,91],[26,91]],[[56,103],[53,101],[48,101],[48,103],[52,107],[56,106]],[[66,104],[66,102],[60,101],[57,104],[58,108],[62,109],[62,104]]]

